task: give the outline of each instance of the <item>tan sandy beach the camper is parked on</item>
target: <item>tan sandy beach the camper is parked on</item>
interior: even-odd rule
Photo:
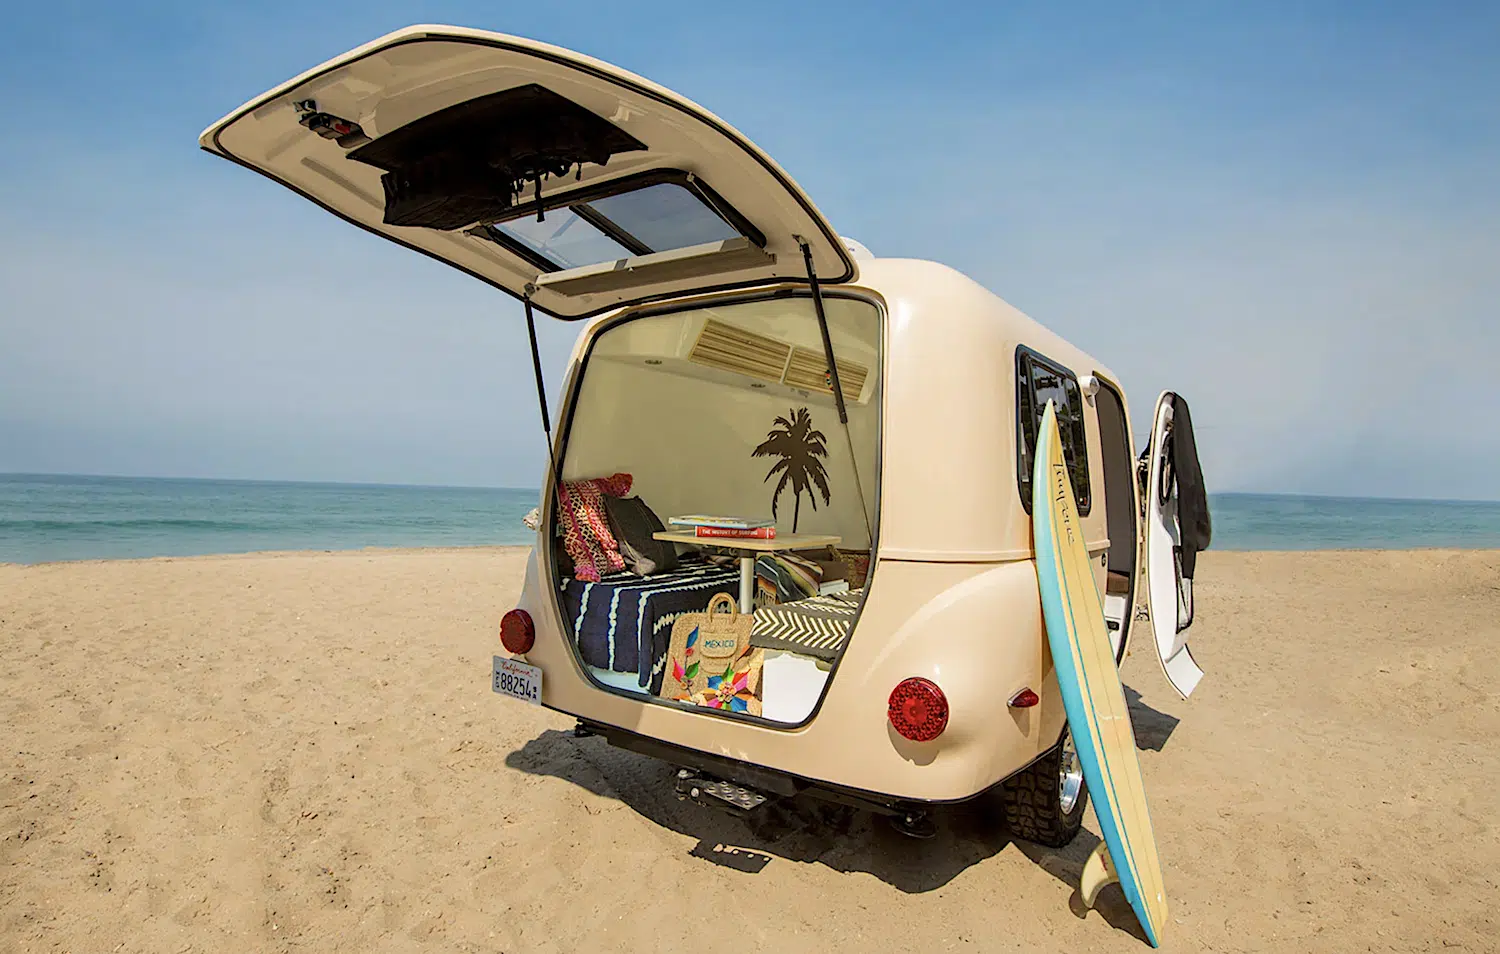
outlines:
[[[1092,812],[752,830],[495,696],[524,561],[0,566],[0,951],[1149,950],[1118,888],[1070,908]],[[1500,950],[1500,550],[1198,576],[1197,694],[1125,663],[1166,950]]]

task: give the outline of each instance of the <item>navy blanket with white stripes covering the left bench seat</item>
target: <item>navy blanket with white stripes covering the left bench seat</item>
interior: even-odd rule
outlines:
[[[612,573],[597,584],[568,579],[562,582],[562,608],[585,663],[634,672],[638,684],[656,693],[672,622],[708,609],[716,592],[740,592],[736,567],[686,564],[656,576]]]

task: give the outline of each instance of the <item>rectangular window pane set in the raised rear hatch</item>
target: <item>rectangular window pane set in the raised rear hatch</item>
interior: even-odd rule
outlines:
[[[633,255],[670,252],[741,236],[687,186],[658,182],[586,202],[525,214],[490,226],[554,268],[578,268]]]

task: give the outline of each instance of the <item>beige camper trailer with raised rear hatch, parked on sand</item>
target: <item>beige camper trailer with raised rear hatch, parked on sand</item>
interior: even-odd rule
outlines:
[[[1118,658],[1149,618],[1172,684],[1202,675],[1174,396],[1138,474],[1108,368],[952,268],[842,238],[682,96],[546,44],[411,27],[201,144],[525,303],[550,466],[492,686],[680,766],[684,798],[807,794],[924,834],[934,806],[994,790],[1018,836],[1072,837],[1086,792],[1029,516],[1047,400]],[[582,322],[555,420],[538,314]],[[708,536],[702,514],[752,519]],[[720,594],[747,620],[710,622],[748,633],[754,680],[666,692],[681,624]]]

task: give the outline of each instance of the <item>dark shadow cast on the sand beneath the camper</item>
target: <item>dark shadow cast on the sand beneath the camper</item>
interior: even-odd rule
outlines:
[[[1161,752],[1178,718],[1146,705],[1125,687],[1136,746]],[[866,812],[800,796],[771,802],[747,819],[714,812],[674,794],[674,766],[614,748],[600,738],[576,738],[549,729],[506,758],[506,765],[534,776],[572,782],[602,798],[614,798],[651,822],[698,838],[690,852],[722,867],[758,874],[772,860],[824,864],[837,872],[864,872],[909,894],[946,885],[966,868],[1016,844],[1026,858],[1058,880],[1076,886],[1083,861],[1098,844],[1084,828],[1062,849],[1012,842],[996,820],[999,806],[980,796],[936,814],[938,834],[914,840]],[[1077,894],[1077,892],[1076,892]],[[1083,914],[1077,896],[1074,914]],[[1110,924],[1138,932],[1136,916],[1118,888],[1095,908]]]

